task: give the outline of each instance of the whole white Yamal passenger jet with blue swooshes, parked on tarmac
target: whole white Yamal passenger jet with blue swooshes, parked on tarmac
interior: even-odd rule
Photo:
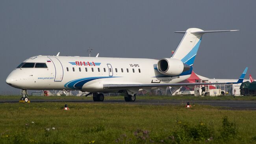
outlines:
[[[102,58],[79,56],[33,56],[23,61],[7,77],[6,83],[22,89],[20,100],[28,101],[26,90],[81,90],[93,94],[94,101],[104,101],[103,93],[122,92],[125,101],[135,101],[138,90],[150,91],[167,86],[202,85],[179,83],[192,72],[202,35],[209,32],[190,28],[171,58]],[[239,80],[242,83],[247,68]],[[232,82],[234,83],[234,82]],[[207,85],[207,83],[203,83]],[[209,83],[213,85],[215,83]],[[216,83],[228,84],[228,83]]]

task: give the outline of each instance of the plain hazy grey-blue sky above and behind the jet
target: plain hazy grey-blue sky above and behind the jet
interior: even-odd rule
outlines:
[[[256,78],[256,1],[242,0],[1,0],[0,94],[19,94],[8,74],[36,55],[169,58],[182,38],[174,31],[239,29],[204,34],[194,71]]]

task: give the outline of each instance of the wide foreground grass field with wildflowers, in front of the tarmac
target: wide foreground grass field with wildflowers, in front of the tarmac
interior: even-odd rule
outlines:
[[[70,110],[65,111],[65,104],[0,104],[0,143],[187,144],[256,140],[255,111],[107,103],[67,103]],[[222,137],[228,135],[222,127],[225,116],[229,122],[225,130],[237,133],[230,139]],[[232,123],[236,127],[228,125]]]

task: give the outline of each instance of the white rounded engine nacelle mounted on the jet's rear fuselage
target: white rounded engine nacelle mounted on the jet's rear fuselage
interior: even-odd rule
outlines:
[[[163,58],[157,63],[158,71],[168,76],[178,76],[190,69],[190,66],[182,63],[180,59]]]

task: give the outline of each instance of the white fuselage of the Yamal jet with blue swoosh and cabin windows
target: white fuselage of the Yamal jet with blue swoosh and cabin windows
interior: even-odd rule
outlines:
[[[157,59],[34,56],[23,63],[30,63],[30,66],[15,68],[6,83],[26,90],[118,92],[123,89],[105,90],[103,85],[178,83],[190,76],[161,74]],[[45,63],[46,67],[38,67],[37,63]]]

